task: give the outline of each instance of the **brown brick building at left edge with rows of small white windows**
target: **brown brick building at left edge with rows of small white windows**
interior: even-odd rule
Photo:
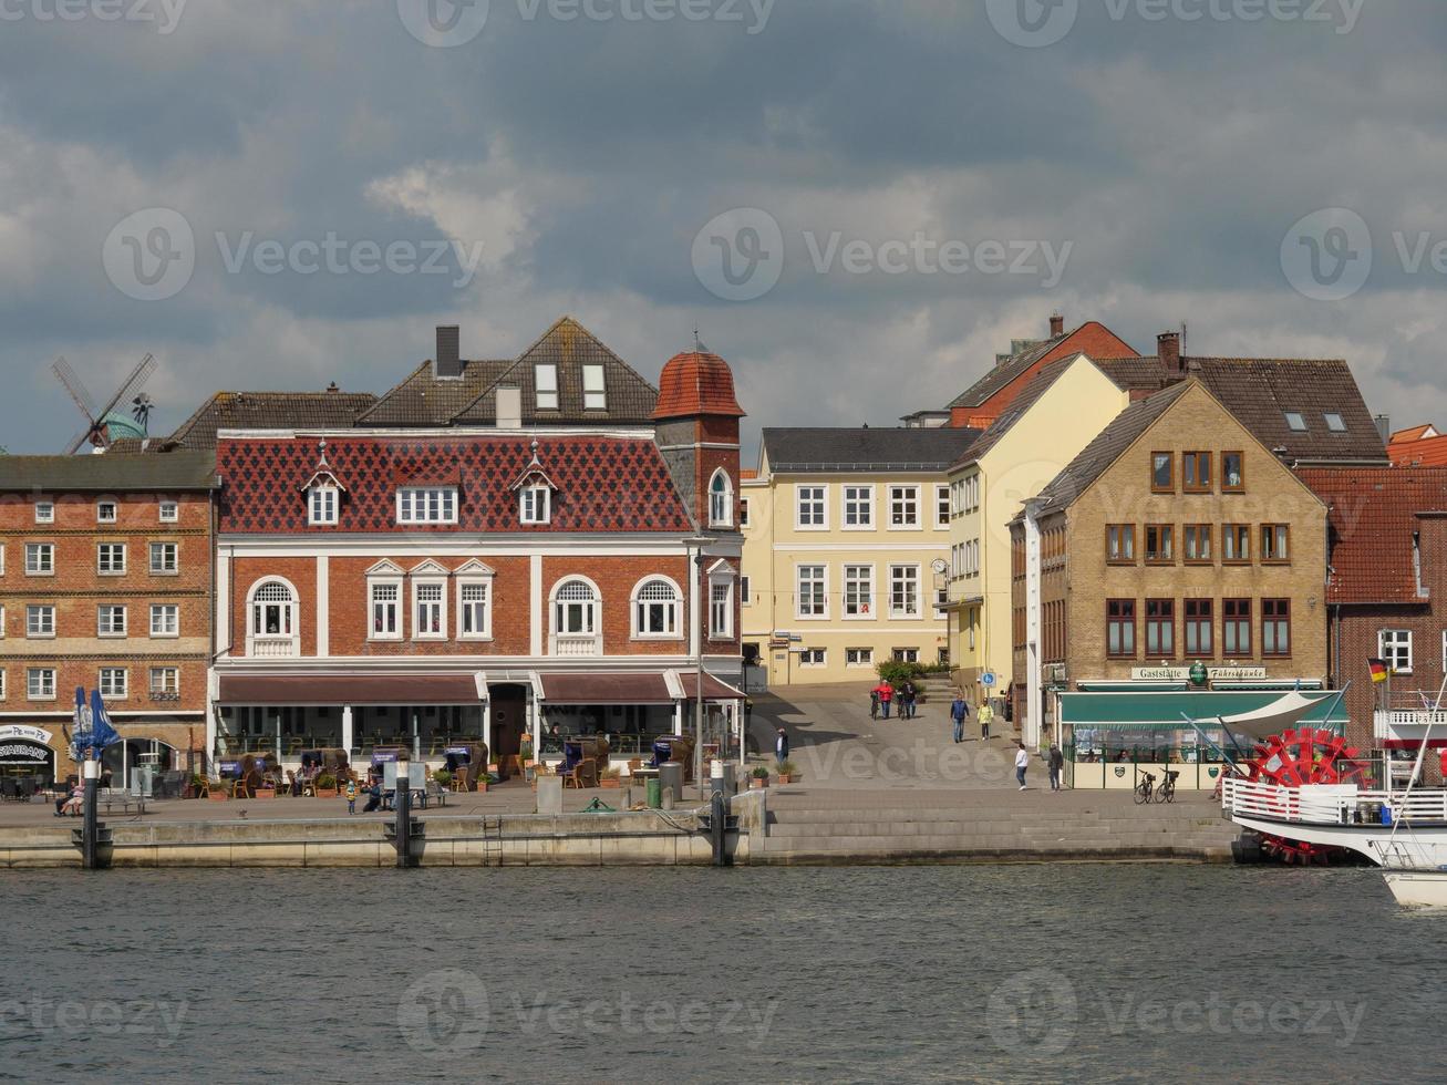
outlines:
[[[75,689],[142,760],[204,751],[214,456],[0,457],[0,773],[64,778]],[[29,752],[27,752],[29,748]]]

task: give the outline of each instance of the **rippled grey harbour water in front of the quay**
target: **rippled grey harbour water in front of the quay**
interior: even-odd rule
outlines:
[[[1441,1079],[1447,917],[1191,865],[3,874],[0,1079]]]

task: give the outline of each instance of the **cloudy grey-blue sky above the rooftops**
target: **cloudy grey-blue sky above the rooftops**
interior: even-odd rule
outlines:
[[[1447,424],[1440,0],[0,0],[0,444],[150,353],[382,392],[460,324],[693,341],[761,425],[893,425],[1011,339],[1346,357]]]

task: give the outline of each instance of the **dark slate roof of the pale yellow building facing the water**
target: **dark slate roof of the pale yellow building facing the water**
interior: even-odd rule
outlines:
[[[980,430],[764,430],[770,470],[942,472],[980,437]]]

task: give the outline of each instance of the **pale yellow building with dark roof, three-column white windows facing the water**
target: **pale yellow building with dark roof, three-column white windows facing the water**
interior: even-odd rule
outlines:
[[[764,430],[758,473],[739,493],[741,613],[744,655],[771,686],[867,681],[884,660],[949,661],[946,472],[978,437]]]

